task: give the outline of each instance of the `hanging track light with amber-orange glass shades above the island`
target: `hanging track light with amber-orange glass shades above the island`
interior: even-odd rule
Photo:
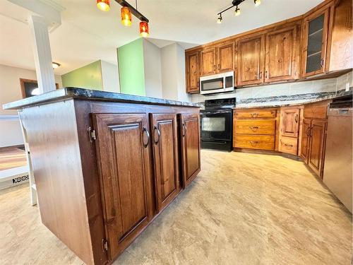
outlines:
[[[148,28],[148,18],[143,16],[140,12],[137,10],[137,0],[135,1],[136,3],[136,8],[131,6],[131,4],[128,4],[126,0],[115,0],[116,3],[118,3],[121,8],[121,24],[130,26],[132,24],[132,16],[136,16],[141,22],[140,22],[140,36],[141,37],[148,37],[150,35],[150,30]],[[244,1],[244,0],[243,0]],[[97,0],[97,7],[100,8],[100,10],[104,11],[109,11],[110,5],[109,5],[109,0]]]

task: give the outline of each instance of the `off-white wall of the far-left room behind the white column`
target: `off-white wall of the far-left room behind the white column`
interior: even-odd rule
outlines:
[[[36,80],[34,70],[0,64],[0,147],[23,144],[22,131],[16,110],[3,110],[2,105],[21,100],[20,78]],[[55,76],[62,86],[61,76]]]

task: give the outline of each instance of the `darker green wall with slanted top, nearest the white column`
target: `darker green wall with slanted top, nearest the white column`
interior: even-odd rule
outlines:
[[[102,90],[102,69],[100,60],[61,76],[64,87],[90,88]]]

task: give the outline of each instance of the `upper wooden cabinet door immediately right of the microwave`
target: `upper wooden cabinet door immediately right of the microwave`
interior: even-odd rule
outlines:
[[[237,86],[263,83],[264,35],[239,40],[237,44]]]

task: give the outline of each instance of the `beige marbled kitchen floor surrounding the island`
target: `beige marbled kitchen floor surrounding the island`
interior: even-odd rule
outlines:
[[[83,264],[40,223],[29,187],[0,191],[0,264]],[[195,181],[114,264],[351,264],[352,215],[304,163],[202,151]]]

